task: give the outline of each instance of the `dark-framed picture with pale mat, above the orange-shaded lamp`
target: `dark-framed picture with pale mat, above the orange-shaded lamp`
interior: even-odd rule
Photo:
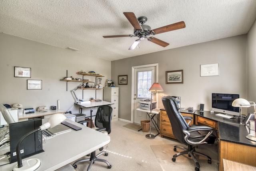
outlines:
[[[166,84],[182,83],[183,84],[183,70],[166,71]]]

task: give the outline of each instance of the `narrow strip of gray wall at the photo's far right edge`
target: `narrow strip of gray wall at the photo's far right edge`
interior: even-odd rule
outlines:
[[[248,101],[256,102],[256,22],[248,32]],[[249,112],[254,112],[253,107],[248,108]]]

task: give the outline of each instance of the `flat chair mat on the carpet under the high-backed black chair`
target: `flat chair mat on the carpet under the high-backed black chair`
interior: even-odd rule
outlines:
[[[150,147],[164,171],[193,171],[196,164],[191,157],[188,157],[188,155],[179,156],[176,158],[175,162],[172,161],[172,156],[174,154],[182,152],[182,149],[178,148],[177,151],[173,151],[174,145],[180,145],[186,148],[185,145],[181,144],[150,145]],[[206,154],[212,158],[212,164],[209,164],[207,158],[196,155],[196,159],[200,164],[200,171],[218,171],[218,153],[216,145],[198,146],[196,151]]]

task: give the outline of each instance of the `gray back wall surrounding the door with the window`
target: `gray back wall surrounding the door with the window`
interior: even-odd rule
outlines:
[[[135,49],[139,50],[139,49]],[[238,93],[247,98],[247,35],[164,50],[111,62],[111,76],[128,75],[128,85],[118,85],[119,118],[131,120],[132,66],[158,63],[158,82],[164,95],[181,96],[182,107],[211,109],[211,93]],[[219,76],[200,77],[200,64],[219,64]],[[166,84],[165,72],[183,70],[183,84]],[[158,96],[158,107],[162,106]]]

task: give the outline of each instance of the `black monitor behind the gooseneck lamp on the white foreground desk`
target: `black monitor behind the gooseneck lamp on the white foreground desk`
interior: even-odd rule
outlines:
[[[16,146],[20,138],[26,133],[40,127],[42,125],[42,119],[32,119],[23,122],[10,123],[10,163],[17,161]],[[42,131],[36,131],[30,134],[22,141],[20,145],[22,159],[30,157],[32,155],[42,153]]]

